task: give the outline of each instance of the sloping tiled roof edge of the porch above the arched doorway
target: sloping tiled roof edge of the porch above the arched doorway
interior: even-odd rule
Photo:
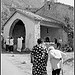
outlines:
[[[55,20],[55,19],[53,19],[53,18],[50,18],[50,19],[48,19],[48,18],[45,18],[45,17],[43,17],[43,16],[39,16],[39,15],[37,15],[37,14],[34,14],[34,13],[32,13],[32,12],[29,12],[29,11],[25,11],[25,10],[18,10],[18,9],[16,9],[16,11],[8,18],[8,20],[4,23],[4,25],[3,26],[5,26],[5,24],[7,24],[7,22],[13,17],[13,15],[15,15],[16,13],[20,13],[20,14],[22,14],[22,15],[25,15],[25,16],[27,16],[27,17],[29,17],[29,18],[31,18],[31,19],[34,19],[34,20],[37,20],[37,21],[47,21],[47,22],[51,22],[51,20],[54,20],[53,22],[57,22],[57,23],[60,23],[60,24],[63,24],[63,25],[65,25],[63,22],[61,22],[61,21],[58,21],[58,20]]]

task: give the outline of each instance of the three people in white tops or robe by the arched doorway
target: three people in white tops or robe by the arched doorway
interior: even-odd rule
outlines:
[[[22,40],[23,37],[19,37],[17,39],[17,51],[21,52],[22,49]],[[6,51],[7,52],[13,52],[14,51],[14,39],[12,37],[7,37],[7,39],[5,40],[5,44],[6,44]]]

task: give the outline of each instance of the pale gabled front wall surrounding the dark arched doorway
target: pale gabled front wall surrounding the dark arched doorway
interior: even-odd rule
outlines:
[[[32,19],[29,19],[27,17],[25,17],[22,14],[16,13],[9,21],[8,23],[5,25],[4,27],[4,38],[6,39],[7,36],[9,35],[9,30],[10,27],[12,25],[12,23],[16,20],[16,19],[20,19],[22,20],[22,22],[25,24],[25,28],[26,28],[26,40],[25,40],[25,47],[27,48],[32,48],[35,42],[35,38],[34,38],[34,25],[35,25],[35,21]]]

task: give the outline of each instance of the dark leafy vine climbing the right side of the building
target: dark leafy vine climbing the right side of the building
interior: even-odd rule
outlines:
[[[66,26],[63,27],[65,32],[67,32],[67,36],[68,36],[68,45],[73,48],[73,28],[70,25],[70,18],[69,17],[64,17]]]

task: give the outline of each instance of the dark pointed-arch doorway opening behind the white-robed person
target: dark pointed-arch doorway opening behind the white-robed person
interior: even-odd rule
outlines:
[[[24,26],[24,23],[22,22],[22,20],[16,19],[12,23],[12,25],[10,27],[10,31],[9,31],[9,36],[12,36],[14,38],[14,46],[17,46],[17,39],[19,37],[23,37],[23,41],[22,41],[22,45],[23,46],[22,46],[22,49],[25,48],[26,30],[25,30],[25,26]]]

